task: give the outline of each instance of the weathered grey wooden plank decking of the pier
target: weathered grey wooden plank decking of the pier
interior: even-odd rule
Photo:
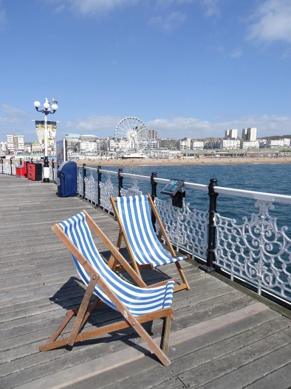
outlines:
[[[290,320],[188,263],[183,268],[191,290],[174,296],[170,367],[151,357],[131,330],[79,343],[72,351],[40,353],[38,346],[83,295],[51,225],[86,209],[113,243],[118,233],[113,218],[55,192],[54,184],[0,175],[0,388],[291,387]],[[154,283],[177,277],[177,271],[163,266],[144,275]],[[86,327],[116,318],[104,307]],[[159,320],[146,327],[154,338],[161,328]]]

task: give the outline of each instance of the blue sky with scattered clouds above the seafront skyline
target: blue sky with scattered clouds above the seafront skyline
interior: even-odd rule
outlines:
[[[65,133],[291,134],[291,0],[0,0],[0,141]]]

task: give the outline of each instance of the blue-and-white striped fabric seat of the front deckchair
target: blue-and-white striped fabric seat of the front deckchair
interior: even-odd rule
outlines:
[[[81,251],[84,258],[133,316],[145,315],[172,305],[174,281],[169,281],[166,285],[155,288],[140,288],[122,280],[106,265],[94,244],[83,212],[60,223],[60,226],[63,228],[65,235]],[[90,275],[72,254],[71,256],[82,281],[88,285]],[[96,285],[94,293],[99,299],[116,310],[113,302],[98,285]]]

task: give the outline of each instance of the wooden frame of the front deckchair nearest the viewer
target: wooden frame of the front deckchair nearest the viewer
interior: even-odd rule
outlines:
[[[134,281],[136,281],[139,286],[149,288],[161,286],[167,283],[169,280],[162,281],[160,283],[155,283],[153,285],[146,286],[146,284],[137,276],[132,267],[128,264],[128,262],[123,258],[121,253],[113,246],[113,244],[109,241],[109,239],[104,235],[104,233],[99,229],[99,227],[94,223],[91,217],[88,215],[86,211],[82,211],[85,214],[86,221],[90,227],[97,233],[97,235],[101,238],[101,240],[106,244],[106,246],[112,252],[114,258],[120,262],[120,264],[129,272],[129,275],[132,277]],[[164,309],[160,309],[156,312],[152,312],[146,315],[142,315],[139,317],[134,317],[126,306],[118,299],[118,297],[114,294],[110,286],[97,274],[96,270],[86,261],[86,259],[81,254],[81,251],[78,250],[71,242],[71,240],[65,235],[62,228],[55,224],[51,228],[55,234],[60,238],[60,240],[64,243],[65,247],[69,249],[69,251],[74,255],[74,257],[79,261],[79,263],[84,267],[86,272],[91,276],[90,282],[85,290],[85,294],[83,300],[81,302],[80,308],[72,309],[66,313],[66,318],[60,324],[58,329],[54,332],[54,334],[49,338],[48,342],[41,345],[39,347],[40,351],[48,351],[53,350],[62,346],[67,346],[69,348],[73,347],[76,342],[83,341],[86,339],[90,339],[92,337],[108,334],[111,332],[120,331],[122,329],[132,327],[132,329],[146,342],[147,346],[151,350],[153,354],[155,354],[163,365],[168,366],[171,364],[170,359],[167,357],[168,354],[168,345],[169,345],[169,336],[170,336],[170,325],[173,320],[173,308],[168,307]],[[176,280],[174,280],[176,281]],[[95,286],[99,285],[99,287],[106,293],[106,295],[110,298],[113,304],[116,306],[120,314],[124,317],[124,320],[120,320],[118,322],[104,325],[102,327],[96,328],[94,330],[89,330],[84,333],[81,333],[83,326],[88,320],[91,312],[100,305],[103,305],[104,302],[100,301],[97,297],[95,301],[89,304],[90,299],[92,297]],[[70,335],[58,339],[61,333],[64,331],[66,325],[69,321],[76,316],[74,325],[70,332]],[[155,341],[148,335],[146,330],[143,328],[142,323],[146,323],[147,321],[154,320],[156,318],[163,318],[163,330],[162,330],[162,344],[160,348]]]

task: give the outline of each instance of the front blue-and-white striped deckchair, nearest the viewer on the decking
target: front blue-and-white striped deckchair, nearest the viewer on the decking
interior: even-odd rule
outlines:
[[[94,244],[89,226],[107,245],[114,258],[128,270],[133,280],[141,286],[124,281],[106,265]],[[80,308],[67,312],[63,323],[49,338],[49,341],[39,347],[39,350],[52,350],[65,345],[72,347],[75,342],[132,327],[162,364],[170,365],[171,361],[167,357],[167,353],[171,320],[173,319],[171,315],[173,314],[172,299],[175,280],[167,280],[147,287],[86,211],[82,211],[60,224],[55,224],[52,226],[52,230],[71,252],[77,272],[87,285],[87,289]],[[96,297],[89,304],[92,294]],[[81,329],[93,309],[104,303],[119,311],[124,320],[81,333]],[[76,316],[76,319],[70,335],[57,339],[73,316]],[[164,318],[162,349],[141,325],[141,323],[155,318]]]

